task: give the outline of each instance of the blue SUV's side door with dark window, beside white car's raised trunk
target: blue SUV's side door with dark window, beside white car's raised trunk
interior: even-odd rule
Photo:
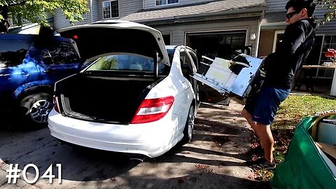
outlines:
[[[52,85],[78,71],[80,57],[74,42],[69,38],[57,38],[55,44],[40,50],[40,57],[37,68],[45,85]]]

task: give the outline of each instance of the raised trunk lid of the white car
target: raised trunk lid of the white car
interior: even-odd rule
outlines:
[[[146,25],[123,20],[102,20],[90,25],[66,27],[56,32],[73,39],[80,57],[86,62],[111,52],[126,52],[153,57],[156,60],[154,68],[158,63],[170,66],[162,34]]]

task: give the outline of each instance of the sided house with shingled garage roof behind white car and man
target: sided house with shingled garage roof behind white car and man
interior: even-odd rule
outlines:
[[[140,22],[162,32],[168,45],[188,45],[197,54],[227,58],[228,50],[261,57],[274,52],[286,28],[287,0],[88,0],[83,25],[98,20]],[[323,9],[314,15],[323,18]],[[54,28],[71,26],[55,10]],[[336,22],[320,25],[308,64],[321,65],[327,48],[336,48]],[[316,69],[314,76],[332,78],[333,69]]]

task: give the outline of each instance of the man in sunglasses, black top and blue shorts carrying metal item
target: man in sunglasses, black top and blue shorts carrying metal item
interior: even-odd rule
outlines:
[[[288,97],[297,69],[306,59],[314,42],[316,25],[311,16],[313,0],[290,0],[286,4],[286,27],[283,41],[276,52],[265,58],[265,81],[260,92],[248,99],[241,115],[251,125],[264,151],[264,157],[246,162],[253,167],[274,169],[274,139],[270,125],[283,100]]]

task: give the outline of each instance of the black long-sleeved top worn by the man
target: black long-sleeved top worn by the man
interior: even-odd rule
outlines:
[[[265,86],[290,89],[295,72],[304,63],[314,43],[315,27],[310,18],[286,27],[279,49],[265,59]]]

